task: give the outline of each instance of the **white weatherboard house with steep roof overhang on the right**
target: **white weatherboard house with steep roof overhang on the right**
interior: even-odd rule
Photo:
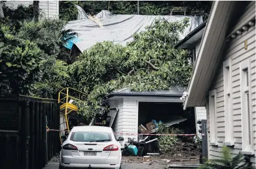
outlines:
[[[184,109],[205,106],[208,157],[224,145],[255,165],[255,1],[215,1]]]

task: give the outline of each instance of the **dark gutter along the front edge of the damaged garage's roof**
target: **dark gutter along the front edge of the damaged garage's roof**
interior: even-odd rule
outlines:
[[[158,96],[158,97],[177,97],[180,98],[182,94],[147,94],[147,93],[110,93],[105,96],[105,99],[113,96]]]

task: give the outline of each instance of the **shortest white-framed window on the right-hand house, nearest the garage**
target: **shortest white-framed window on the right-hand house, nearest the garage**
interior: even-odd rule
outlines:
[[[217,144],[217,128],[216,128],[216,89],[209,93],[209,113],[210,113],[210,145]]]

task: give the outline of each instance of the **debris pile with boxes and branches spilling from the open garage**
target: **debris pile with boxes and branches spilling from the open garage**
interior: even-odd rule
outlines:
[[[161,158],[177,158],[177,161],[184,160],[183,158],[198,156],[200,150],[194,144],[193,137],[179,137],[172,135],[148,135],[148,134],[184,134],[182,130],[175,129],[172,126],[177,122],[184,121],[184,119],[176,120],[164,124],[163,122],[152,120],[147,124],[140,124],[138,142],[129,140],[125,146],[122,155],[148,157],[158,155]],[[145,157],[146,156],[146,157]],[[179,158],[179,159],[178,159]]]

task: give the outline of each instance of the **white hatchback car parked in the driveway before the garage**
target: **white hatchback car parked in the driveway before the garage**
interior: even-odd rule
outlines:
[[[62,143],[59,168],[121,168],[121,144],[111,127],[73,127]]]

